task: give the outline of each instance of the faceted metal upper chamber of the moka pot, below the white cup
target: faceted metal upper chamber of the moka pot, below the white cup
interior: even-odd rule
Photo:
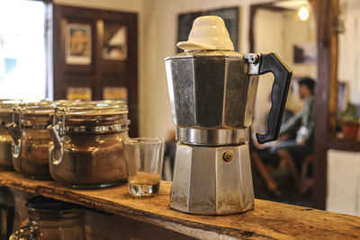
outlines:
[[[241,129],[251,125],[258,76],[233,51],[185,52],[166,58],[177,128]]]

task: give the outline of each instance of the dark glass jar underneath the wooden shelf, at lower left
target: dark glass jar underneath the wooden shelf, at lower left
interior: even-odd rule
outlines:
[[[42,196],[26,203],[29,225],[9,240],[85,240],[85,210],[76,205]]]

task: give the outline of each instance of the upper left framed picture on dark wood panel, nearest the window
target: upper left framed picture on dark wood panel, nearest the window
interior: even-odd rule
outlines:
[[[65,31],[65,62],[68,65],[91,64],[91,25],[67,23]]]

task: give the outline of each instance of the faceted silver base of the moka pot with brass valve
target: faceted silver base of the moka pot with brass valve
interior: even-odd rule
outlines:
[[[253,209],[248,145],[209,147],[178,143],[170,207],[201,215]]]

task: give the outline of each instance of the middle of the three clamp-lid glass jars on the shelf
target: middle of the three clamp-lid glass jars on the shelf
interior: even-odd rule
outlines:
[[[53,104],[22,102],[14,109],[14,122],[7,126],[14,139],[13,164],[17,172],[31,178],[51,179],[49,147],[53,145],[47,127],[52,122]]]

